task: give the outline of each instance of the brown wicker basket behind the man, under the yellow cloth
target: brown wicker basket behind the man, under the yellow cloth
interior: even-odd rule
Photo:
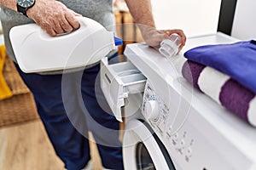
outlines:
[[[0,127],[38,119],[32,93],[8,56],[3,68],[3,77],[14,95],[0,101]]]

